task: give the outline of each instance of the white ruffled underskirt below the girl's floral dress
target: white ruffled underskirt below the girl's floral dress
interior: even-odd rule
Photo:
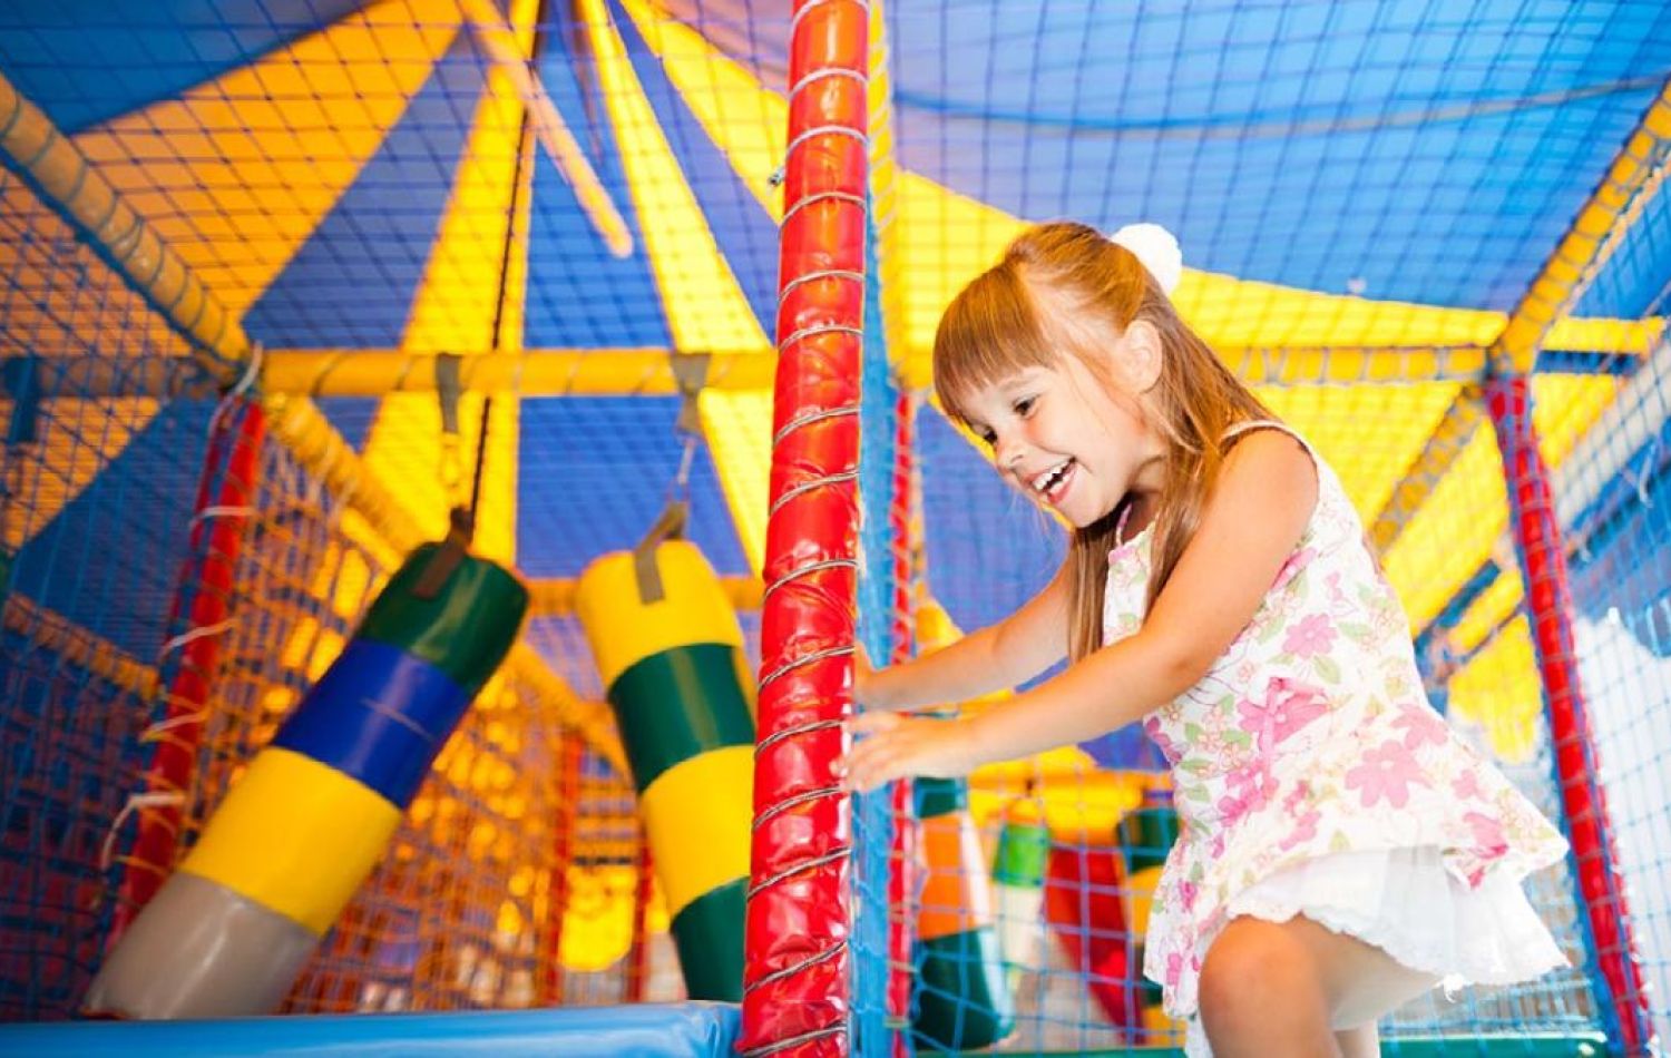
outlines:
[[[1527,981],[1567,966],[1519,879],[1494,872],[1469,889],[1434,847],[1307,861],[1238,893],[1227,921],[1285,923],[1295,914],[1380,948],[1447,991]],[[1190,1018],[1185,1053],[1211,1056],[1200,1015]]]

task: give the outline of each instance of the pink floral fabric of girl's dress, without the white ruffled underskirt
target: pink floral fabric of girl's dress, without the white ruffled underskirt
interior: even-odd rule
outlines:
[[[1145,961],[1173,1016],[1196,1010],[1227,904],[1283,867],[1345,849],[1432,846],[1479,884],[1566,851],[1427,704],[1399,600],[1340,481],[1317,466],[1312,521],[1252,623],[1195,689],[1143,722],[1171,766],[1185,824]],[[1148,537],[1110,555],[1106,642],[1143,625]]]

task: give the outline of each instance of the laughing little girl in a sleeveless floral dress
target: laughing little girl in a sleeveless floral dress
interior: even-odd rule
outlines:
[[[941,403],[1073,526],[1004,622],[857,672],[871,789],[1135,720],[1183,834],[1145,974],[1190,1055],[1374,1055],[1439,981],[1566,964],[1521,891],[1566,842],[1422,692],[1409,623],[1333,471],[1183,324],[1138,257],[1044,224],[946,311]],[[959,720],[894,712],[1056,679]]]

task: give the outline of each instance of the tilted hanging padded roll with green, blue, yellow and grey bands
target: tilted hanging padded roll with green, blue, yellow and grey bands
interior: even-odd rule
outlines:
[[[449,540],[419,547],[110,953],[94,1013],[271,1013],[510,650],[528,592]]]

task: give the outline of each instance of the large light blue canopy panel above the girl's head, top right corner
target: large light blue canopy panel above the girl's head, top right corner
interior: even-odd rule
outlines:
[[[996,20],[996,25],[994,25]],[[1507,309],[1671,69],[1654,5],[889,10],[901,164],[1247,279]],[[1014,47],[1014,42],[1028,42]]]

